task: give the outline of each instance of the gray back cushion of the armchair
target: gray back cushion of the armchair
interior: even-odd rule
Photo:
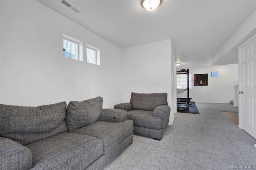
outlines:
[[[154,111],[160,105],[167,105],[167,93],[133,93],[130,103],[133,110]]]

